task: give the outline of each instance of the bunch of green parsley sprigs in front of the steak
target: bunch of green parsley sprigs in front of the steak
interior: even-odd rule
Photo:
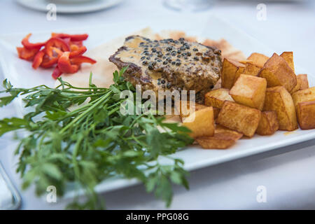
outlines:
[[[123,78],[125,70],[113,73],[114,84],[109,88],[92,84],[92,74],[89,87],[75,87],[59,79],[56,88],[39,85],[25,89],[3,80],[6,90],[2,92],[10,95],[0,98],[0,106],[22,96],[25,107],[32,109],[23,118],[0,120],[0,136],[27,131],[15,151],[22,188],[34,184],[36,194],[43,195],[48,186],[55,186],[60,196],[69,184],[83,188],[87,200],[76,198],[69,209],[103,208],[94,187],[117,175],[138,179],[167,206],[172,202],[172,183],[188,188],[183,161],[170,155],[192,143],[189,130],[178,123],[165,123],[162,116],[152,113],[120,113],[120,104],[126,100],[120,99],[120,92],[135,94],[132,84]],[[160,157],[170,162],[162,164]]]

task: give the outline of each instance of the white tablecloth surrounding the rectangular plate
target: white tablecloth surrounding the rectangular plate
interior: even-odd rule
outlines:
[[[295,63],[309,73],[315,73],[314,1],[266,3],[265,21],[256,19],[257,4],[255,1],[220,1],[210,10],[199,13],[199,16],[202,20],[215,13],[276,52],[293,50]],[[179,12],[165,8],[161,1],[127,0],[109,10],[57,15],[56,21],[48,21],[45,13],[24,8],[12,0],[2,0],[0,15],[0,33],[7,34],[158,17],[172,20]],[[0,118],[14,115],[13,106],[0,109]],[[10,167],[10,158],[15,149],[10,137],[7,134],[0,138],[0,160],[22,195],[22,209],[63,209],[66,202],[49,204],[43,198],[36,197],[34,189],[20,189],[20,179]],[[315,209],[314,145],[315,140],[311,140],[191,172],[190,190],[175,187],[171,209]],[[256,200],[258,186],[264,186],[266,202],[258,203]],[[142,186],[116,190],[103,196],[108,209],[165,208],[153,195],[146,194]]]

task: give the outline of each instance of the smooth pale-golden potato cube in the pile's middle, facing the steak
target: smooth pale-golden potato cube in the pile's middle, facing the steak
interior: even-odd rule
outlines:
[[[238,104],[261,111],[265,102],[266,88],[265,78],[241,74],[230,90],[230,95]]]

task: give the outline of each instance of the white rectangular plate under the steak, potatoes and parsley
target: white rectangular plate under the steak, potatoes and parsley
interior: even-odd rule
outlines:
[[[87,33],[90,37],[85,42],[87,48],[110,41],[118,36],[127,35],[139,29],[151,27],[153,31],[163,29],[176,29],[186,31],[191,36],[201,36],[211,39],[225,38],[235,48],[242,50],[246,56],[251,52],[261,52],[265,55],[272,55],[273,51],[263,45],[255,38],[248,36],[244,32],[235,29],[228,22],[209,17],[207,21],[194,21],[193,18],[176,18],[168,20],[152,21],[132,21],[116,23],[111,25],[102,25],[98,27],[85,27],[80,29],[61,30],[70,33]],[[34,41],[42,41],[49,38],[50,32],[43,31],[32,36]],[[56,31],[56,30],[53,30]],[[51,70],[33,70],[29,62],[18,58],[15,47],[20,45],[20,41],[26,34],[8,34],[0,36],[0,62],[5,78],[8,78],[15,87],[32,87],[34,85],[45,84],[53,87],[55,80],[52,80]],[[290,50],[290,46],[288,46]],[[281,52],[277,52],[281,53]],[[297,73],[307,73],[296,66]],[[309,75],[309,85],[315,83],[315,76]],[[16,102],[19,113],[23,112],[22,104]],[[315,130],[295,130],[294,132],[276,132],[271,137],[262,137],[255,135],[252,139],[241,139],[237,144],[228,150],[203,150],[200,146],[190,146],[174,154],[174,157],[185,161],[185,167],[188,170],[199,169],[211,165],[217,165],[221,162],[227,162],[238,158],[244,158],[248,155],[254,155],[266,151],[271,151],[279,147],[297,144],[302,141],[314,139]],[[108,179],[97,186],[97,192],[116,190],[138,183],[137,180],[120,179],[118,176]],[[73,196],[73,189],[69,188],[66,197]]]

